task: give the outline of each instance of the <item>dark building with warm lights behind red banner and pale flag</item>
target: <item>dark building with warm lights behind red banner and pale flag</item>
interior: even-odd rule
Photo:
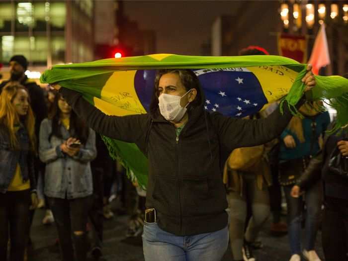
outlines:
[[[245,1],[236,16],[215,19],[211,55],[235,56],[249,45],[279,55],[278,35],[303,35],[308,39],[308,59],[321,23],[326,24],[331,64],[324,75],[348,72],[348,1]]]

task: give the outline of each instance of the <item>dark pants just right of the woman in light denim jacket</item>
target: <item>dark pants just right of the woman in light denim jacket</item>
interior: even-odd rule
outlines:
[[[101,248],[103,241],[103,196],[104,196],[104,183],[103,183],[103,169],[92,168],[93,178],[93,194],[91,207],[88,212],[90,224],[92,225],[92,248]]]

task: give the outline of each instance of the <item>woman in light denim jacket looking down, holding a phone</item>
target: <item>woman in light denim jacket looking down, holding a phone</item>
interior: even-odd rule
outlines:
[[[86,261],[95,133],[58,93],[52,115],[40,126],[39,156],[46,163],[44,193],[57,225],[62,259]]]

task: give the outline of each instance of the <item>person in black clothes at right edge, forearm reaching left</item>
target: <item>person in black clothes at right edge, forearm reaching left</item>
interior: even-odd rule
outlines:
[[[348,74],[345,76],[348,78]],[[335,121],[329,130],[335,125]],[[340,159],[338,161],[338,159]],[[322,243],[325,260],[348,261],[348,130],[327,133],[323,149],[313,158],[291,189],[295,198],[322,181],[324,211]],[[315,260],[315,259],[312,259]]]

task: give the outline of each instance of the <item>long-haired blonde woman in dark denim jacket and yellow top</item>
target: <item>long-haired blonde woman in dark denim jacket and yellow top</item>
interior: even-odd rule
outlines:
[[[29,208],[37,205],[34,126],[26,88],[4,87],[0,95],[0,260],[7,259],[9,238],[10,260],[24,260]]]

